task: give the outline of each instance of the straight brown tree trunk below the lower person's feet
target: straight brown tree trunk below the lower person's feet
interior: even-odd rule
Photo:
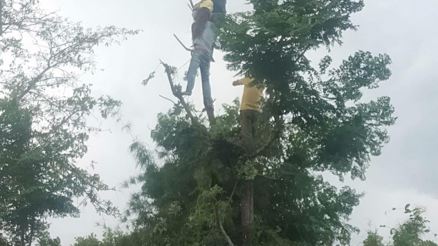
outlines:
[[[254,186],[252,180],[244,181],[243,196],[240,200],[240,227],[242,246],[252,246],[251,228],[254,222]]]

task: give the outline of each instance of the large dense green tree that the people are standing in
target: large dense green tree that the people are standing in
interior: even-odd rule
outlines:
[[[390,98],[361,99],[389,79],[391,60],[358,51],[338,67],[329,55],[314,67],[307,51],[341,44],[364,3],[248,2],[253,10],[228,15],[218,45],[228,69],[266,87],[257,156],[244,156],[238,100],[207,127],[176,93],[151,133],[157,155],[131,146],[143,170],[131,181],[142,189],[126,218],[146,245],[348,245],[358,231],[348,219],[362,194],[321,174],[364,180],[370,156],[389,141]],[[174,90],[175,68],[164,66]]]

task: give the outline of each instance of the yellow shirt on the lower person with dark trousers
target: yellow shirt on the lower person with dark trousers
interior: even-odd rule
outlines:
[[[260,112],[260,99],[262,98],[263,89],[257,86],[251,86],[254,79],[243,78],[233,82],[234,86],[245,85],[243,88],[242,101],[240,103],[240,110],[255,110]]]

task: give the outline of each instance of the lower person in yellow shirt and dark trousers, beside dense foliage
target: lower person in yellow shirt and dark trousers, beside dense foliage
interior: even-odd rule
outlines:
[[[249,157],[257,151],[254,137],[263,95],[263,88],[253,85],[253,81],[251,78],[243,78],[232,83],[233,86],[244,85],[240,102],[240,128],[246,155]]]

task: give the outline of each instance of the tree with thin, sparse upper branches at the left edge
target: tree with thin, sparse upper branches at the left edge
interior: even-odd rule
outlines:
[[[38,0],[1,0],[0,13],[0,228],[13,245],[30,246],[45,235],[48,217],[79,216],[87,203],[117,213],[99,198],[111,188],[76,163],[89,135],[101,131],[87,117],[96,109],[113,116],[120,102],[94,98],[79,77],[95,71],[96,46],[137,31],[86,29]]]

